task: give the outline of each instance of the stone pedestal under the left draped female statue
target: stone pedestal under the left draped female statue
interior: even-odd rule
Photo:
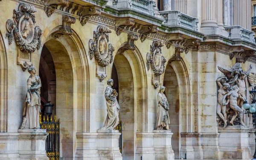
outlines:
[[[18,148],[22,160],[49,160],[45,150],[46,129],[19,129]]]

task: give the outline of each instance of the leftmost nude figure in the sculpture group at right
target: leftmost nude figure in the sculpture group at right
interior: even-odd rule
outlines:
[[[230,88],[230,84],[228,83],[223,83],[223,85],[221,84],[221,80],[225,79],[227,81],[227,77],[219,77],[217,79],[217,84],[220,87],[220,89],[218,90],[218,104],[217,104],[217,114],[220,116],[220,118],[222,119],[222,121],[224,122],[224,126],[227,126],[227,114],[226,114],[226,105],[222,105],[221,101],[222,98],[225,94],[228,93],[228,89]],[[229,99],[226,101],[226,99],[224,100],[225,103],[229,103]],[[222,113],[221,113],[222,111]]]

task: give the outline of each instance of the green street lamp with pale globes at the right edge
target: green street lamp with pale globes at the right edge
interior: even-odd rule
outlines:
[[[252,90],[249,91],[250,95],[252,95],[252,103],[248,104],[247,101],[244,101],[243,107],[244,109],[247,111],[245,114],[248,114],[249,117],[249,113],[252,114],[253,116],[253,128],[256,129],[256,87],[253,87]],[[256,136],[256,131],[254,132],[254,135]],[[256,138],[255,138],[255,143],[256,143]],[[256,160],[256,147],[255,147],[255,152],[253,154],[253,159],[252,160]]]

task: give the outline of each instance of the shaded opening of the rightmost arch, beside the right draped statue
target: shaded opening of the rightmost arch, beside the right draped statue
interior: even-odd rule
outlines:
[[[169,103],[169,128],[172,129],[172,149],[175,153],[175,159],[180,159],[180,129],[179,129],[179,85],[175,70],[170,66],[166,66],[163,86],[166,87],[165,95]]]

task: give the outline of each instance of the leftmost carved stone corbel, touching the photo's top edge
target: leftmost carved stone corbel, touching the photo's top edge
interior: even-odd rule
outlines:
[[[67,6],[68,0],[47,0],[45,13],[50,17],[58,6]]]

